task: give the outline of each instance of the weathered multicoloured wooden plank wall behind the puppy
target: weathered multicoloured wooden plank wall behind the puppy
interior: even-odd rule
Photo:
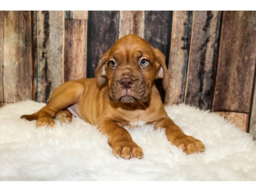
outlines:
[[[0,12],[0,103],[47,102],[59,84],[94,77],[132,33],[166,55],[168,90],[156,82],[166,105],[210,110],[256,136],[255,26],[255,11]]]

